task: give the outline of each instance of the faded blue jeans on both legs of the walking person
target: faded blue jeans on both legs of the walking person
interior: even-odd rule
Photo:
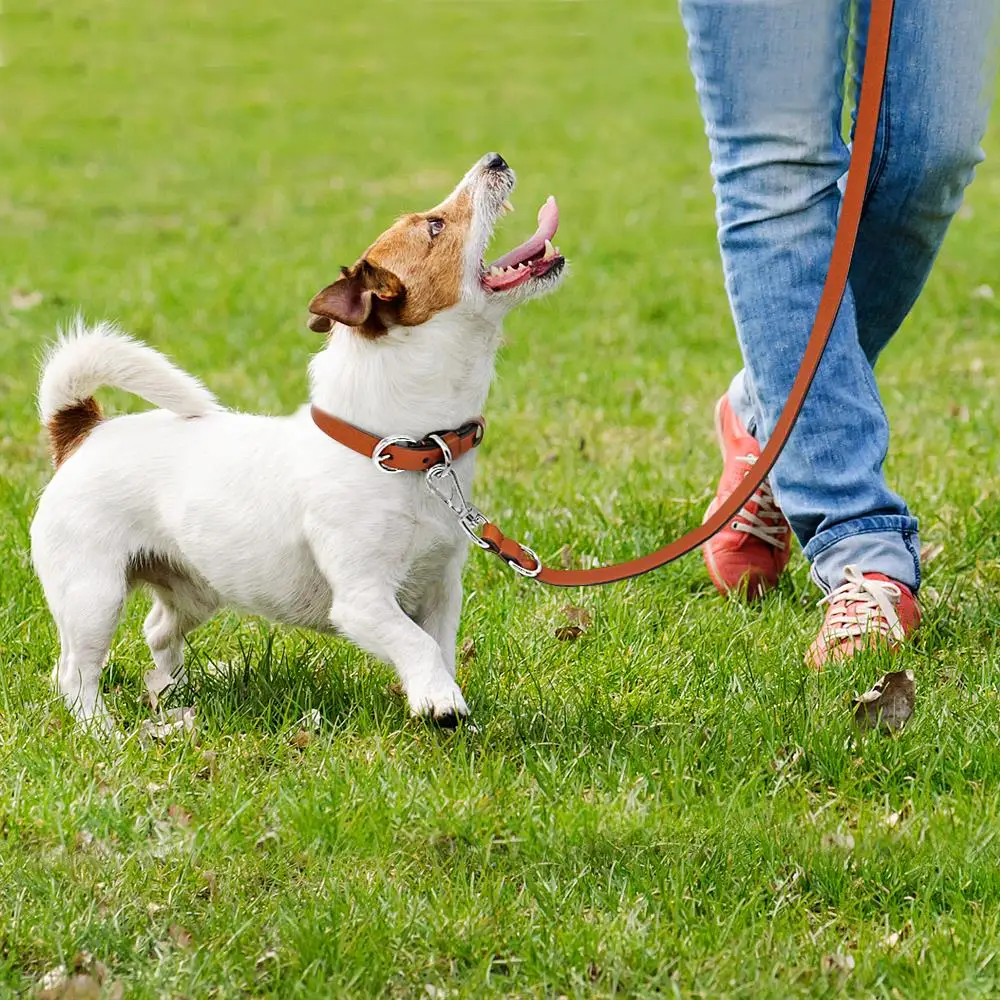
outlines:
[[[733,409],[763,444],[826,277],[849,149],[849,0],[681,0],[744,369]],[[920,585],[917,521],[882,466],[873,366],[923,288],[982,158],[996,0],[897,0],[850,287],[771,486],[829,591],[846,565]],[[870,0],[855,9],[863,62]],[[852,103],[860,83],[851,81]]]

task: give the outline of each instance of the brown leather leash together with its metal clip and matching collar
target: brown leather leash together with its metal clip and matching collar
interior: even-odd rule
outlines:
[[[889,40],[892,35],[892,9],[893,0],[872,2],[847,187],[841,202],[840,219],[837,222],[833,252],[830,255],[830,268],[827,271],[826,282],[816,309],[816,319],[809,334],[802,363],[792,383],[785,407],[775,424],[774,432],[753,470],[718,506],[711,517],[698,527],[669,545],[628,562],[598,566],[594,569],[553,569],[550,566],[543,566],[538,556],[526,545],[508,538],[497,525],[470,504],[462,493],[452,462],[482,441],[481,419],[470,421],[457,431],[428,434],[420,441],[398,435],[379,439],[313,407],[313,420],[317,426],[335,440],[371,458],[384,472],[423,471],[428,488],[448,506],[476,545],[499,556],[520,575],[531,577],[541,583],[548,583],[554,587],[591,587],[629,580],[650,570],[659,569],[703,545],[736,516],[774,467],[795,426],[806,394],[816,376],[827,341],[830,339],[833,324],[847,289],[854,244],[857,240],[875,151],[886,66],[889,60]]]

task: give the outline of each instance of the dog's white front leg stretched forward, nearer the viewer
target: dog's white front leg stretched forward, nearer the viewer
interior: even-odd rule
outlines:
[[[330,621],[362,649],[396,668],[414,715],[453,726],[469,714],[454,667],[449,669],[435,639],[406,616],[384,583],[335,588]]]

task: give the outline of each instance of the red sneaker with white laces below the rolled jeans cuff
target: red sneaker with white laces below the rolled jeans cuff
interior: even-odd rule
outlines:
[[[909,587],[881,573],[844,567],[846,583],[820,604],[826,618],[806,653],[806,665],[846,660],[862,649],[884,647],[896,652],[920,624],[920,605]]]

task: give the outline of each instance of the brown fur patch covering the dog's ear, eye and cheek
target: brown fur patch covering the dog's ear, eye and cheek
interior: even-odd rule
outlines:
[[[427,212],[403,216],[309,303],[317,317],[310,328],[327,332],[329,319],[377,337],[389,326],[419,326],[455,305],[472,214],[472,198],[463,190]],[[436,235],[432,223],[443,223]]]

